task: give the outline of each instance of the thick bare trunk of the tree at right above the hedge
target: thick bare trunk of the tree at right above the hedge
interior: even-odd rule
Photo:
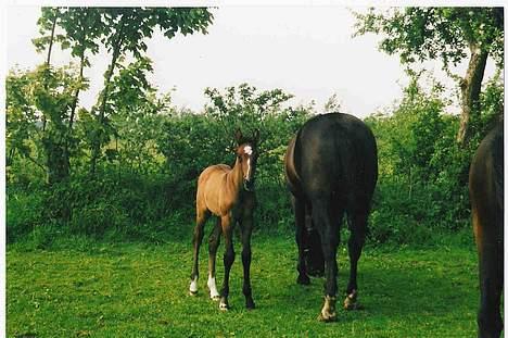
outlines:
[[[465,147],[471,137],[471,118],[480,115],[480,92],[483,75],[485,73],[488,51],[481,50],[477,46],[470,47],[471,59],[469,60],[466,77],[460,80],[460,127],[457,134],[457,142]]]

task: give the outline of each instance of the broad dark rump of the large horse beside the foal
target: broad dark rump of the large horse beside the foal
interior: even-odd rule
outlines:
[[[342,113],[313,117],[299,132],[292,155],[307,197],[333,195],[369,204],[378,177],[377,147],[359,118]]]

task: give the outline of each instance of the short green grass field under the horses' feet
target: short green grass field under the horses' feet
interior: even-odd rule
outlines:
[[[221,247],[223,248],[223,247]],[[220,252],[221,252],[220,248]],[[478,303],[473,246],[367,248],[359,263],[365,310],[317,321],[323,279],[295,284],[291,238],[253,237],[257,308],[244,309],[240,248],[229,312],[207,297],[206,247],[198,297],[188,296],[190,242],[79,245],[51,250],[10,246],[9,337],[474,337]],[[339,288],[348,263],[339,252]],[[221,253],[218,284],[221,284]],[[341,295],[342,299],[342,295]],[[342,300],[341,300],[342,302]]]

